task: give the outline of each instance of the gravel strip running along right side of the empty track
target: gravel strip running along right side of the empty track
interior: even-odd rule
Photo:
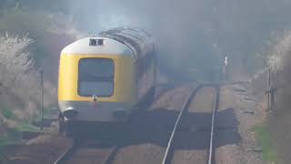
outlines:
[[[264,164],[254,128],[262,112],[242,86],[221,88],[217,116],[216,164]]]

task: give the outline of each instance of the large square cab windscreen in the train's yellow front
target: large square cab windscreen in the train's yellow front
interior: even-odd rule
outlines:
[[[81,97],[110,97],[114,93],[114,61],[83,58],[79,61],[78,94]]]

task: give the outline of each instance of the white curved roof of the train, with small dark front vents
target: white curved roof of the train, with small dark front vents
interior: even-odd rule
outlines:
[[[145,56],[148,52],[154,50],[152,38],[146,32],[123,27],[111,29],[96,36],[79,39],[65,46],[62,54],[103,54],[139,57]]]

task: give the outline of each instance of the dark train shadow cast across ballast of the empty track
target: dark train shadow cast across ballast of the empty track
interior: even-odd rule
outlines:
[[[103,132],[96,132],[94,136],[106,143],[104,147],[129,147],[148,143],[166,147],[177,116],[178,110],[175,109],[156,108],[143,111],[136,113],[127,125],[108,128]],[[186,113],[186,118],[176,133],[175,149],[208,149],[211,117],[211,113]],[[218,112],[216,147],[237,144],[241,140],[237,126],[233,108]]]

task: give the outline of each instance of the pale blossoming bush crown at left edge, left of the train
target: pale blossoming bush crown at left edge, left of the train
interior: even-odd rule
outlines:
[[[32,42],[27,36],[0,36],[0,81],[4,86],[22,85],[32,73],[34,62],[27,51]]]

